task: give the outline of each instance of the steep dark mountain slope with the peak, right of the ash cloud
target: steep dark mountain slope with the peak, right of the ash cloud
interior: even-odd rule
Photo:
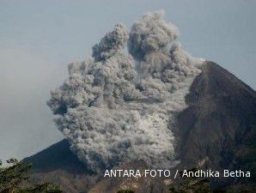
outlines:
[[[181,165],[208,157],[212,169],[250,169],[255,176],[255,91],[226,69],[207,62],[186,102],[176,134]]]

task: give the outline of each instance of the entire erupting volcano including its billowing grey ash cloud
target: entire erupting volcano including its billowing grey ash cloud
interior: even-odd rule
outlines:
[[[255,184],[255,91],[183,51],[178,29],[163,15],[143,15],[130,32],[116,25],[92,57],[70,63],[69,78],[47,103],[66,139],[25,159],[34,163],[34,178],[52,179],[67,192],[116,192],[131,182],[101,178],[102,171],[184,169],[207,157],[205,167],[250,171],[247,183]],[[165,192],[162,179],[150,180],[132,187]]]

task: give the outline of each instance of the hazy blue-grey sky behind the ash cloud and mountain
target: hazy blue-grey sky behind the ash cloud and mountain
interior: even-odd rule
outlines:
[[[119,22],[164,9],[192,56],[220,64],[255,89],[256,1],[0,0],[0,159],[22,159],[63,136],[50,90]]]

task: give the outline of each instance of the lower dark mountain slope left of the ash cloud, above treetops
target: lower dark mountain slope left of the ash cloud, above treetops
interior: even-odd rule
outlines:
[[[67,140],[57,142],[23,161],[33,163],[34,181],[51,181],[67,193],[88,192],[97,179],[70,151]]]

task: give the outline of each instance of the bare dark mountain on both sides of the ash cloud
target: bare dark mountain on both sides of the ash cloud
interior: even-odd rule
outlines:
[[[187,108],[177,115],[177,168],[194,166],[207,158],[205,168],[241,169],[251,178],[217,178],[213,187],[253,184],[256,175],[256,92],[226,69],[205,62],[186,96]],[[160,178],[102,178],[87,171],[66,140],[24,160],[34,164],[34,180],[50,180],[66,192],[116,192],[128,185],[136,192],[166,192]],[[143,161],[118,168],[147,168]]]

